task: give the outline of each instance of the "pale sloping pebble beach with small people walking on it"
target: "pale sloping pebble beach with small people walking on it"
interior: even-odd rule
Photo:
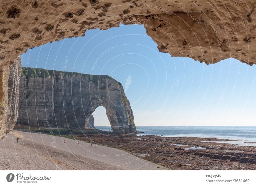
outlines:
[[[35,132],[13,130],[0,140],[0,148],[1,170],[167,169],[116,148],[91,148],[83,141],[78,145],[76,140]]]

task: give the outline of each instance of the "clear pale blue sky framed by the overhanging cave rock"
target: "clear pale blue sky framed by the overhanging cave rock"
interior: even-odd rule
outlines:
[[[68,58],[67,67],[64,67]],[[226,59],[214,65],[161,53],[143,25],[89,30],[22,54],[22,66],[108,74],[126,89],[136,126],[256,124],[256,66]],[[103,107],[95,125],[109,125]]]

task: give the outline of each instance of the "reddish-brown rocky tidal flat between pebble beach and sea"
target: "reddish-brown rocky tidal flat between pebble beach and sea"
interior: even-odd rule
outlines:
[[[90,139],[172,170],[255,170],[256,167],[256,147],[250,142],[242,146],[232,144],[238,141],[217,138],[101,134],[65,136],[81,141]]]

